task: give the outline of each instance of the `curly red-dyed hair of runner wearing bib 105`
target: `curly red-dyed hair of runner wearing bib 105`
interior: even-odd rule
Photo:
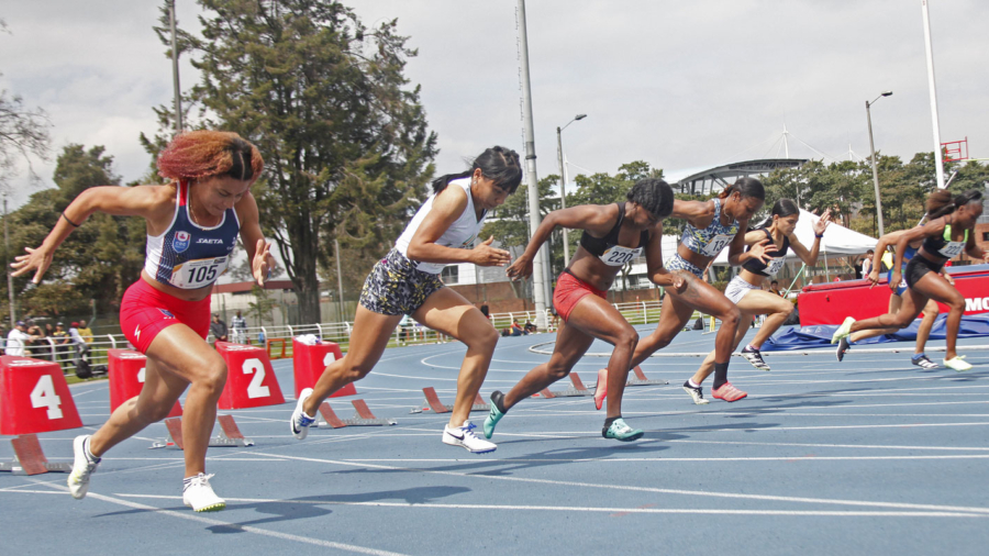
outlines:
[[[169,179],[230,176],[254,181],[264,168],[257,147],[232,132],[186,132],[158,155],[158,175]]]

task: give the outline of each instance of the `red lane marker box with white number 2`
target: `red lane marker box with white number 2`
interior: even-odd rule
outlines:
[[[226,360],[226,386],[220,409],[244,409],[285,403],[268,354],[260,347],[216,342],[216,352]]]

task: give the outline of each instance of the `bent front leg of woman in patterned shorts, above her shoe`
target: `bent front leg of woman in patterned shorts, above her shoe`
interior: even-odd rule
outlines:
[[[433,292],[412,313],[412,318],[467,345],[467,354],[457,376],[457,399],[449,414],[451,427],[463,426],[464,421],[470,416],[470,407],[488,375],[494,346],[498,344],[498,332],[479,309],[449,288]]]

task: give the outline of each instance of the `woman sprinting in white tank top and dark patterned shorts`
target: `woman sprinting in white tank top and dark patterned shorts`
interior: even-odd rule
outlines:
[[[385,352],[403,314],[467,344],[457,378],[457,399],[443,431],[443,443],[468,452],[493,452],[496,445],[478,437],[469,421],[470,407],[488,374],[498,332],[476,307],[440,281],[443,267],[453,263],[504,266],[507,251],[491,247],[493,237],[468,249],[488,211],[501,205],[522,181],[519,155],[504,147],[485,151],[470,170],[433,181],[433,194],[412,218],[388,255],[364,282],[354,318],[351,347],[333,362],[315,387],[299,392],[290,422],[292,435],[305,438],[320,404],[344,386],[360,380]]]

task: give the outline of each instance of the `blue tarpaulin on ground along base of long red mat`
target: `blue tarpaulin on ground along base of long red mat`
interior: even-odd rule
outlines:
[[[946,314],[937,315],[934,327],[931,330],[931,340],[944,340]],[[910,326],[896,334],[885,334],[856,342],[854,345],[885,344],[887,342],[913,342],[916,340],[916,329],[920,319],[913,321]],[[805,349],[808,347],[826,347],[831,344],[831,336],[837,330],[833,324],[819,324],[815,326],[791,326],[763,344],[763,352],[785,352],[789,349]],[[989,314],[973,314],[962,316],[962,327],[958,337],[989,336]]]

